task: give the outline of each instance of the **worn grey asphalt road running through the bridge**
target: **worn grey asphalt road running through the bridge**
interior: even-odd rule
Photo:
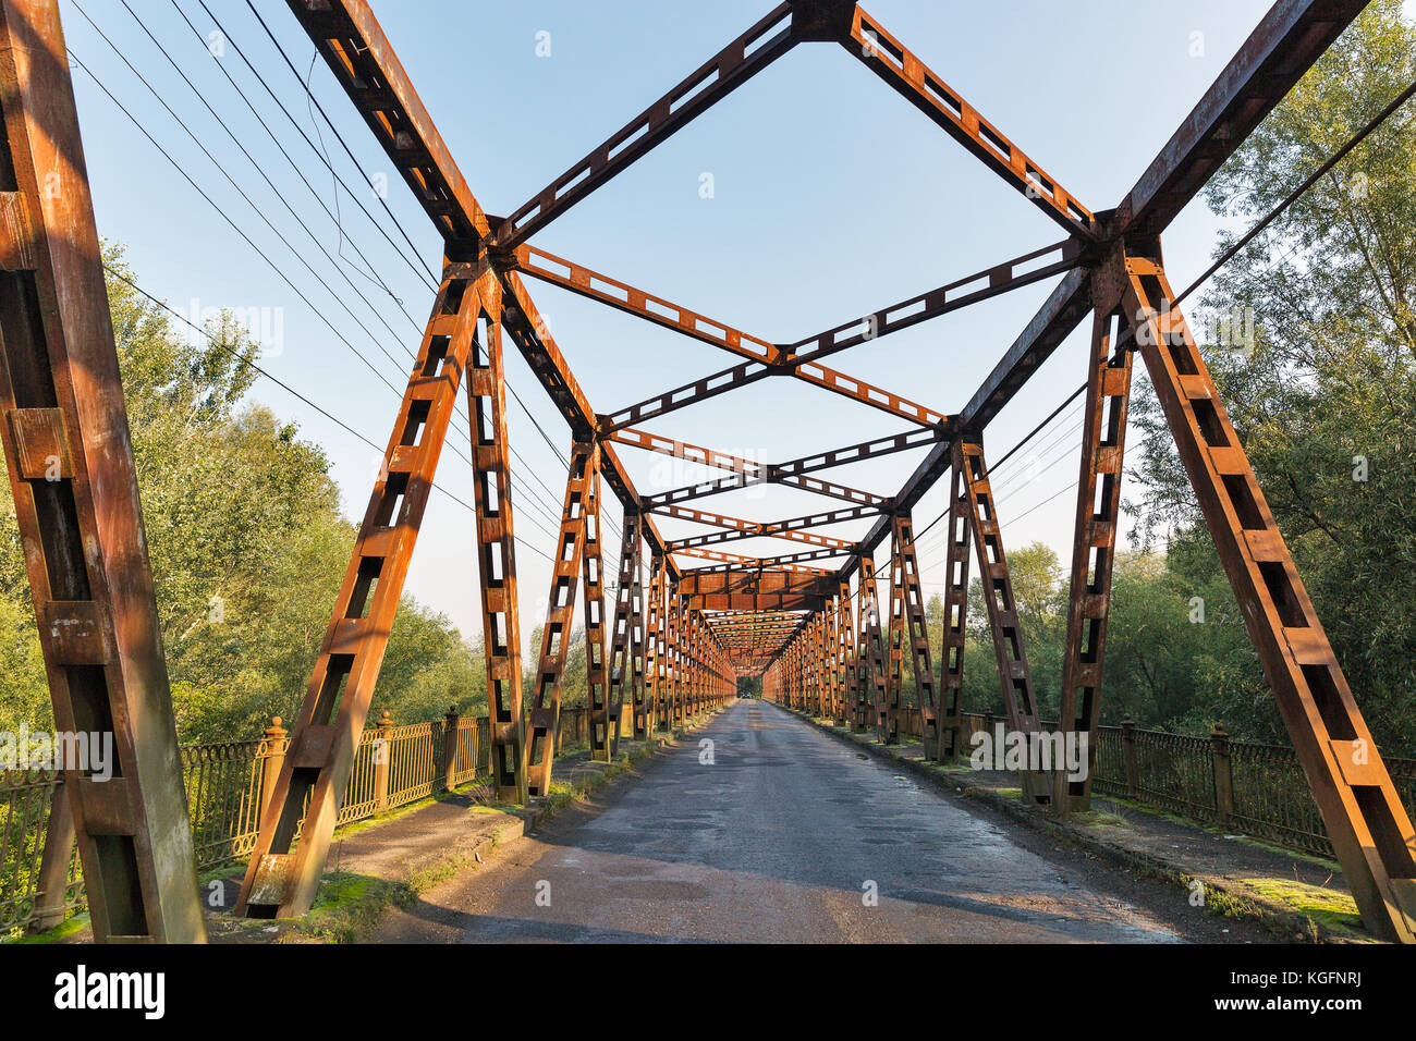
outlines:
[[[379,939],[1181,942],[1219,932],[1177,889],[1051,850],[763,701],[738,701],[602,792],[391,912]]]

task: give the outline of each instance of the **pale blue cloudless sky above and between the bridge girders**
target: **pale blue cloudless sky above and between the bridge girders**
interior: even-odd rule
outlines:
[[[316,133],[302,82],[313,47],[286,4],[255,0],[297,72],[285,64],[245,0],[205,4],[219,20],[222,37],[210,35],[218,28],[198,0],[129,0],[160,47],[122,0],[61,0],[61,10],[71,52],[306,299],[202,200],[93,79],[75,69],[99,232],[126,244],[139,282],[174,307],[191,312],[195,302],[195,310],[256,309],[265,316],[269,340],[262,364],[382,445],[398,395],[353,350],[402,388],[406,353],[416,348],[432,303],[426,275],[416,272],[422,263],[438,269],[439,239],[323,61],[314,64],[310,91],[348,142],[357,166],[327,127],[321,125],[321,135]],[[79,7],[187,123],[195,142]],[[769,8],[767,0],[374,3],[469,184],[493,214],[507,214],[535,195]],[[1263,0],[875,0],[867,6],[1092,210],[1117,204],[1266,8]],[[537,54],[542,33],[549,34],[548,57]],[[214,50],[219,51],[215,57]],[[205,95],[234,137],[164,54]],[[314,146],[329,149],[344,180],[358,188],[358,200],[338,191],[338,225],[324,208],[336,208],[330,171],[241,55]],[[295,166],[272,143],[262,120]],[[711,198],[700,193],[705,173],[712,174]],[[385,201],[412,238],[416,262],[411,262],[413,251],[372,190],[360,188],[379,176],[389,183]],[[312,234],[300,228],[292,210]],[[1202,201],[1174,222],[1164,244],[1177,286],[1205,268],[1216,227]],[[404,246],[404,255],[385,232]],[[1058,238],[1056,225],[838,45],[804,44],[545,228],[532,244],[766,340],[792,341]],[[368,268],[355,246],[368,258]],[[528,285],[600,412],[732,364],[732,355],[707,344],[554,286]],[[932,408],[957,412],[1051,286],[1049,280],[956,312],[838,354],[830,364]],[[1073,334],[993,422],[986,438],[991,456],[1012,448],[1085,378],[1085,329]],[[564,455],[568,431],[514,350],[507,355],[507,372],[513,389]],[[303,436],[324,445],[347,511],[361,516],[377,453],[268,381],[255,385],[252,398],[297,421]],[[472,472],[459,457],[467,455],[464,401],[462,411],[449,440],[449,449],[459,452],[445,452],[439,483],[470,501]],[[1065,562],[1075,510],[1075,496],[1066,489],[1078,469],[1073,416],[1075,408],[994,474],[1010,548],[1041,540],[1056,547]],[[765,462],[908,429],[884,412],[790,380],[760,381],[644,426]],[[523,626],[530,632],[544,610],[549,564],[541,554],[549,552],[554,541],[564,466],[514,401],[510,436],[520,456],[517,564]],[[629,448],[620,455],[646,494],[721,476]],[[888,496],[920,455],[916,450],[821,476]],[[942,499],[942,490],[935,491],[916,507],[918,528],[939,514]],[[806,514],[828,503],[780,487],[700,500],[701,508],[749,520]],[[612,500],[607,508],[617,518],[617,503]],[[823,531],[854,538],[868,525],[862,520]],[[673,520],[661,521],[661,530],[671,538],[707,531]],[[722,548],[767,555],[792,552],[793,544],[745,540]],[[881,559],[886,552],[882,547]],[[612,555],[617,555],[617,545]],[[922,542],[922,564],[926,595],[939,591],[943,545],[936,535]],[[446,612],[464,633],[477,632],[472,516],[445,496],[432,499],[406,589]]]

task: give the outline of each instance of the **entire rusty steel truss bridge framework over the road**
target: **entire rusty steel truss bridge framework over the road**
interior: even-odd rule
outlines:
[[[926,755],[961,739],[959,693],[970,558],[984,588],[1008,725],[1032,732],[1038,705],[986,455],[990,421],[1080,323],[1089,322],[1082,480],[1076,497],[1061,727],[1097,727],[1127,405],[1138,355],[1249,635],[1303,762],[1344,875],[1374,933],[1416,939],[1416,836],[1225,404],[1178,307],[1161,235],[1225,159],[1365,6],[1279,0],[1136,186],[1092,208],[991,123],[946,78],[851,0],[789,0],[767,11],[644,112],[506,217],[479,204],[365,0],[289,0],[350,102],[443,239],[440,286],[394,416],[343,588],[320,646],[290,751],[265,807],[238,911],[302,915],[330,847],[389,627],[428,506],[457,394],[473,419],[476,544],[497,796],[547,793],[568,644],[586,633],[596,758],[732,697],[762,676],[767,697],[858,731],[899,738],[916,714]],[[185,796],[167,669],[142,535],[98,235],[57,0],[0,0],[4,167],[0,184],[0,439],[25,545],[44,661],[61,729],[110,729],[119,776],[67,770],[64,807],[101,940],[200,940]],[[657,144],[800,44],[837,44],[1059,229],[1059,241],[888,303],[857,322],[772,343],[695,313],[532,237]],[[1127,74],[1138,75],[1138,74]],[[1144,84],[1140,84],[1144,89]],[[62,191],[50,190],[58,176]],[[936,411],[828,360],[902,329],[1059,276],[991,374],[957,412]],[[586,398],[528,285],[547,282],[731,355],[721,371],[615,412]],[[503,360],[527,360],[571,428],[544,636],[518,626]],[[860,351],[867,354],[868,351]],[[1082,374],[1078,374],[1082,375]],[[650,433],[643,423],[749,384],[787,378],[888,412],[905,432],[760,463]],[[889,497],[824,476],[910,449],[926,453]],[[620,459],[654,452],[724,476],[641,494]],[[944,660],[930,660],[910,510],[947,482]],[[823,499],[817,513],[745,520],[694,500],[758,483]],[[603,496],[623,507],[619,575],[606,599]],[[702,534],[666,540],[658,517]],[[860,540],[814,531],[869,518]],[[755,537],[783,552],[748,557]],[[889,545],[889,574],[875,551]],[[647,576],[644,574],[647,564]],[[884,596],[878,582],[888,582]],[[523,694],[523,660],[537,663]],[[913,678],[915,704],[903,698]],[[1369,749],[1361,755],[1361,749]],[[1025,797],[1056,813],[1086,807],[1089,780],[1025,773]]]

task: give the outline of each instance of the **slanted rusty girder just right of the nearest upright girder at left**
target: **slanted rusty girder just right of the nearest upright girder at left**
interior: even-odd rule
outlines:
[[[551,565],[551,591],[545,599],[545,623],[541,626],[541,653],[531,688],[527,729],[528,795],[547,795],[551,790],[565,661],[571,633],[575,630],[575,593],[585,557],[585,514],[590,508],[592,484],[598,472],[599,446],[593,440],[573,442],[561,504],[561,528],[555,541],[555,562]]]

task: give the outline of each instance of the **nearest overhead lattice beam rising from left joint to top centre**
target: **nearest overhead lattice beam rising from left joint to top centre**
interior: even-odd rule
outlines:
[[[292,0],[293,1],[293,0]],[[497,228],[497,246],[514,249],[680,127],[707,112],[792,50],[792,4],[783,3],[590,154],[556,177]]]

